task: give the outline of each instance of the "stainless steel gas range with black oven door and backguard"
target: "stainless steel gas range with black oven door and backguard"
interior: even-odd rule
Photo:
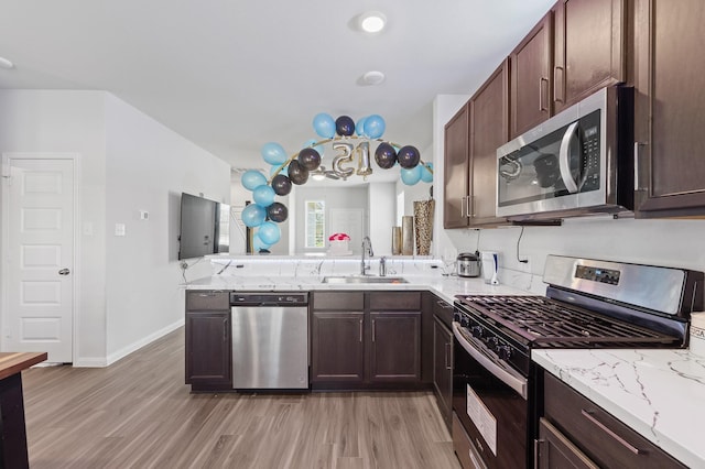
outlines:
[[[703,273],[550,255],[546,296],[457,296],[453,439],[465,468],[533,465],[534,348],[681,348]]]

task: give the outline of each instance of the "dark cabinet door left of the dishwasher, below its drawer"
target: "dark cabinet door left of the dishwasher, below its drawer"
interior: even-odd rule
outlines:
[[[231,388],[230,312],[187,312],[185,329],[186,384]]]

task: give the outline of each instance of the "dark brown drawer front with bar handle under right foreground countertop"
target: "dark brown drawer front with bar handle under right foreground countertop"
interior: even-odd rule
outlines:
[[[685,467],[547,372],[544,396],[549,421],[600,467]]]

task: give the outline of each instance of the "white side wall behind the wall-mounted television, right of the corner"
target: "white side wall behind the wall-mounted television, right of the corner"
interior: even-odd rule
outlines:
[[[230,204],[230,166],[106,95],[107,356],[115,361],[183,324],[181,193]],[[149,211],[147,220],[140,210]],[[124,223],[127,234],[113,236]],[[189,264],[194,264],[189,260]],[[210,273],[208,262],[186,271]]]

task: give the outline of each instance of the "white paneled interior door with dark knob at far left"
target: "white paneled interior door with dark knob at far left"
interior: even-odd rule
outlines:
[[[4,160],[2,350],[72,362],[74,161]]]

